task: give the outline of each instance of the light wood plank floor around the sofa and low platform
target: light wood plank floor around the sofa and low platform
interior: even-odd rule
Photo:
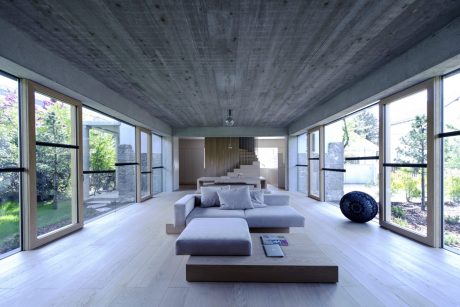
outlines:
[[[460,256],[297,193],[308,235],[339,265],[338,284],[187,283],[186,256],[166,235],[163,193],[40,249],[0,260],[2,306],[460,306]]]

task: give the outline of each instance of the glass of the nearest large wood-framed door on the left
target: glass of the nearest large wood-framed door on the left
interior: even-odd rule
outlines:
[[[37,235],[77,220],[76,106],[54,96],[34,92]]]

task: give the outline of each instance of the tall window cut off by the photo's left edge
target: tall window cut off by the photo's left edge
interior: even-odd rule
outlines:
[[[0,258],[21,247],[18,80],[0,75]]]

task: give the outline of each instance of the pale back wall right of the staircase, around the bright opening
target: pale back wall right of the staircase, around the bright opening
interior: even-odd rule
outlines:
[[[278,148],[278,169],[260,168],[260,175],[265,177],[267,183],[280,189],[286,187],[287,178],[287,144],[286,139],[257,139],[256,148]]]

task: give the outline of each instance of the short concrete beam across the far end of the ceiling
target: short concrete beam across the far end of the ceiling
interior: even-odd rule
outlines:
[[[243,136],[286,136],[282,127],[193,127],[175,128],[176,137],[243,137]]]

